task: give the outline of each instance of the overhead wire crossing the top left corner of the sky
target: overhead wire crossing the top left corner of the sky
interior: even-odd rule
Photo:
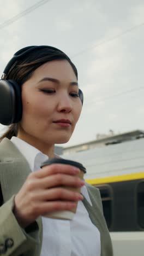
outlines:
[[[12,23],[14,23],[15,21],[21,19],[23,16],[27,15],[28,13],[31,13],[33,10],[39,8],[41,5],[44,5],[47,2],[50,2],[52,0],[41,0],[35,4],[33,4],[31,7],[27,8],[26,10],[21,11],[21,13],[13,16],[12,18],[4,21],[2,24],[0,24],[0,30],[2,30],[2,28],[7,27],[9,25],[11,25]]]

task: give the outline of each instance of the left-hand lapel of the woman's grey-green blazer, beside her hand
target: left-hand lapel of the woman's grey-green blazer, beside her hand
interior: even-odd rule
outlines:
[[[4,202],[18,193],[29,173],[27,160],[9,139],[4,138],[0,143],[0,183]],[[37,223],[41,229],[41,218]]]

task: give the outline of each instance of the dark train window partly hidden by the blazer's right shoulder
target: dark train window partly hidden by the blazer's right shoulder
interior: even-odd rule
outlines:
[[[112,224],[112,189],[110,185],[95,185],[100,190],[101,200],[103,203],[103,211],[107,228],[110,229]]]

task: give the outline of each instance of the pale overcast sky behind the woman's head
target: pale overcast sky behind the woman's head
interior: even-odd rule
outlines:
[[[1,73],[24,46],[56,46],[75,63],[85,96],[79,123],[64,147],[109,130],[144,130],[144,1],[45,1],[2,28],[37,2],[44,1],[0,0]],[[3,129],[0,125],[1,133]]]

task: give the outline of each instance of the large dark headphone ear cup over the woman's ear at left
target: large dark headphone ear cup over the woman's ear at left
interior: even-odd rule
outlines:
[[[0,123],[18,123],[22,116],[20,86],[14,80],[0,80]]]

